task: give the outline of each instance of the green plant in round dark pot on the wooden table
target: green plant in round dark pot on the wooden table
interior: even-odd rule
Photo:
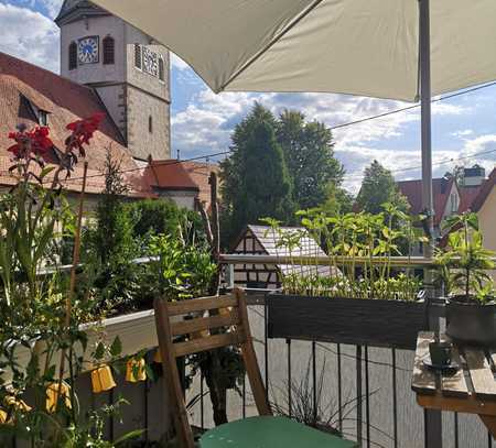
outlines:
[[[484,248],[477,216],[466,212],[448,221],[453,229],[436,254],[446,293],[446,335],[464,342],[496,342],[496,303],[492,276],[494,252]]]

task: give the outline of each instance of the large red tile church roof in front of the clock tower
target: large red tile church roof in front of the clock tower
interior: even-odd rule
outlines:
[[[12,185],[15,181],[9,175],[11,154],[7,149],[12,144],[8,134],[17,125],[25,123],[28,128],[37,125],[37,119],[31,108],[48,113],[50,135],[55,146],[62,149],[68,135],[67,123],[105,112],[100,129],[95,133],[88,146],[86,161],[88,162],[88,193],[100,193],[105,186],[101,168],[105,163],[107,149],[112,156],[121,161],[129,182],[132,196],[150,196],[150,186],[143,182],[142,173],[131,172],[138,166],[123,145],[121,135],[107,113],[105,106],[96,92],[85,86],[73,83],[52,72],[36,67],[15,57],[0,53],[0,183]],[[73,174],[73,181],[66,183],[69,190],[79,190],[82,185],[83,164]]]

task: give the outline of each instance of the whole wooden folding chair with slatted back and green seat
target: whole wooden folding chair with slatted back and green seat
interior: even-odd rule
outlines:
[[[206,431],[200,440],[201,448],[351,448],[356,446],[348,440],[309,428],[292,419],[272,416],[254,350],[245,296],[240,289],[236,289],[230,295],[175,303],[155,299],[154,308],[157,334],[173,406],[174,425],[183,448],[194,448],[195,442],[187,420],[176,358],[227,346],[238,346],[241,349],[246,373],[260,416],[228,423]],[[228,313],[212,313],[215,309],[225,310],[226,308],[229,309]],[[209,312],[208,317],[204,317],[205,312]],[[175,316],[192,314],[200,314],[202,317],[171,321],[171,318]],[[181,342],[175,338],[223,327],[229,328],[229,331],[209,334],[202,338],[188,338]]]

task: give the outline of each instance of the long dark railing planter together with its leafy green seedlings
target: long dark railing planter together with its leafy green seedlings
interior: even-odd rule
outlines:
[[[282,292],[268,296],[269,335],[414,348],[418,332],[427,328],[421,281],[413,269],[398,270],[391,260],[393,254],[410,254],[413,242],[422,238],[412,219],[391,205],[378,215],[328,217],[319,209],[299,215],[304,232],[288,232],[266,220],[277,247],[295,260],[304,253],[298,233],[310,233],[325,248],[328,269],[323,275],[316,261],[292,263],[282,275]]]

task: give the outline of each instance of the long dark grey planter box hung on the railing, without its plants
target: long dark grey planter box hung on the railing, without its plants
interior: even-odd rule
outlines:
[[[428,329],[423,301],[269,294],[267,308],[269,338],[414,350],[418,332]]]

